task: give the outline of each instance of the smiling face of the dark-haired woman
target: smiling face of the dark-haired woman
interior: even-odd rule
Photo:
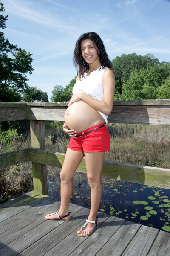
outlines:
[[[88,63],[99,61],[99,51],[96,44],[91,39],[85,39],[81,42],[82,57]]]

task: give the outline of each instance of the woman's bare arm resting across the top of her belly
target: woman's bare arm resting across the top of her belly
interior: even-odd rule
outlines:
[[[73,102],[83,100],[92,108],[105,113],[110,114],[113,108],[114,89],[115,89],[115,77],[112,70],[107,69],[103,73],[103,101],[94,99],[86,93],[75,93],[68,104],[70,106]]]

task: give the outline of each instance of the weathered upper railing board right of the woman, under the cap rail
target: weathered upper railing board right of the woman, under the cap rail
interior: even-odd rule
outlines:
[[[170,125],[170,106],[113,106],[108,122]]]

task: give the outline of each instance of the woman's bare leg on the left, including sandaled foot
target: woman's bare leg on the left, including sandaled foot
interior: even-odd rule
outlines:
[[[61,205],[58,211],[59,216],[65,216],[68,214],[68,205],[73,192],[73,175],[79,166],[82,158],[84,157],[84,152],[73,151],[70,148],[67,149],[65,154],[64,163],[62,170],[60,172],[61,179]],[[46,215],[46,219],[54,220],[57,215]],[[70,217],[65,217],[63,219],[69,219]]]

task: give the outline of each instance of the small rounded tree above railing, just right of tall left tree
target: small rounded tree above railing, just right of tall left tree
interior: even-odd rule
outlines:
[[[38,90],[37,87],[28,87],[23,94],[23,102],[48,102],[48,94]]]

